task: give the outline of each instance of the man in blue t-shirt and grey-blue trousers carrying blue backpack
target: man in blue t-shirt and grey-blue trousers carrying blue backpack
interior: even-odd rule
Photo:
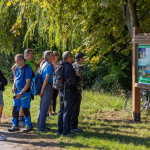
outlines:
[[[41,102],[39,109],[39,116],[37,122],[38,131],[49,131],[50,128],[46,127],[46,117],[49,105],[52,97],[52,86],[53,86],[53,66],[52,61],[54,55],[51,51],[47,50],[44,53],[45,63],[42,65],[42,88],[40,92]]]

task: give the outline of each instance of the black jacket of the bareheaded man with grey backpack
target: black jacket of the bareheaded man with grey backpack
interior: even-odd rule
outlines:
[[[64,65],[64,82],[69,79],[69,82],[66,82],[66,90],[75,90],[76,89],[76,73],[72,65],[67,61],[60,61],[61,65]]]

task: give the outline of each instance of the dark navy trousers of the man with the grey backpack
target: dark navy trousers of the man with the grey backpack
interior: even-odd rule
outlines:
[[[75,101],[74,91],[59,92],[60,95],[60,110],[58,113],[58,130],[57,132],[67,135],[70,132],[70,119],[72,115],[72,108]],[[64,99],[63,99],[64,98]]]

